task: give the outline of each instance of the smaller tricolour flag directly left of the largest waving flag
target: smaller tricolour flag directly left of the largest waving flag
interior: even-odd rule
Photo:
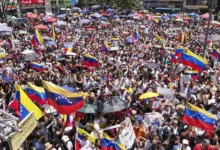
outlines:
[[[31,83],[27,83],[27,95],[28,97],[40,104],[40,105],[44,105],[47,102],[47,97],[46,97],[46,93],[44,88],[42,87],[37,87]]]

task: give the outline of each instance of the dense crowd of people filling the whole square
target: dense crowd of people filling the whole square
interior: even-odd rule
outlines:
[[[71,87],[76,93],[87,93],[85,106],[94,106],[96,110],[94,113],[77,111],[70,114],[71,124],[66,126],[55,109],[48,113],[46,104],[36,104],[45,113],[21,149],[74,150],[77,149],[76,141],[81,149],[85,145],[89,148],[84,149],[102,149],[102,129],[118,124],[118,128],[105,130],[105,134],[125,146],[119,135],[128,119],[136,138],[129,141],[133,143],[132,147],[124,149],[218,150],[219,120],[211,135],[182,120],[187,102],[220,117],[220,66],[212,55],[213,49],[220,47],[220,42],[208,39],[204,52],[208,19],[186,13],[168,15],[138,10],[84,10],[65,12],[63,16],[36,14],[37,17],[27,17],[26,24],[11,20],[7,25],[13,29],[12,34],[0,36],[1,52],[7,54],[0,64],[2,109],[19,117],[9,107],[15,82],[25,90],[28,82],[42,86],[44,80],[57,86]],[[55,21],[48,22],[48,18]],[[44,41],[33,45],[36,25],[46,28],[38,29]],[[184,41],[179,38],[182,31]],[[220,35],[220,26],[211,23],[209,34]],[[106,46],[103,41],[110,45],[107,51],[103,50]],[[192,71],[193,68],[183,65],[178,58],[175,63],[172,61],[171,55],[178,47],[186,47],[207,60],[206,67],[197,72],[197,78],[185,75],[186,70]],[[23,53],[28,50],[33,53]],[[98,60],[98,66],[84,65],[86,53]],[[44,70],[32,68],[33,62],[44,66]],[[186,76],[190,79],[183,79]],[[167,97],[160,94],[158,88],[173,91],[173,94],[167,93]],[[159,95],[140,98],[146,92]],[[108,113],[95,109],[115,97],[127,107]],[[157,114],[160,121],[156,125],[148,122],[146,116],[149,114]],[[89,135],[84,133],[81,138],[77,137],[77,128]],[[5,140],[0,147],[9,149]]]

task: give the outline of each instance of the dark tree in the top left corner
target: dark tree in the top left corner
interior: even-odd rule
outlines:
[[[15,0],[0,0],[0,19],[3,23],[10,19],[7,17],[8,11],[12,9],[9,6],[15,6]]]

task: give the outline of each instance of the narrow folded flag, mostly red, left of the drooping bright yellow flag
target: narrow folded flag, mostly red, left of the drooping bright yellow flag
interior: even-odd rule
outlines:
[[[15,110],[16,114],[19,116],[20,115],[20,91],[19,91],[19,86],[18,84],[15,84],[15,90],[16,90],[16,93],[15,93],[15,99],[12,100],[10,103],[9,103],[9,108]]]

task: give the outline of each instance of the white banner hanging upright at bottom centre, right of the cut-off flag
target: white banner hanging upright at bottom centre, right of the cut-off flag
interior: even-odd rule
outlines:
[[[136,138],[131,120],[129,118],[125,119],[126,126],[123,128],[121,134],[119,134],[119,139],[122,145],[125,146],[125,149],[129,149],[134,144]]]

